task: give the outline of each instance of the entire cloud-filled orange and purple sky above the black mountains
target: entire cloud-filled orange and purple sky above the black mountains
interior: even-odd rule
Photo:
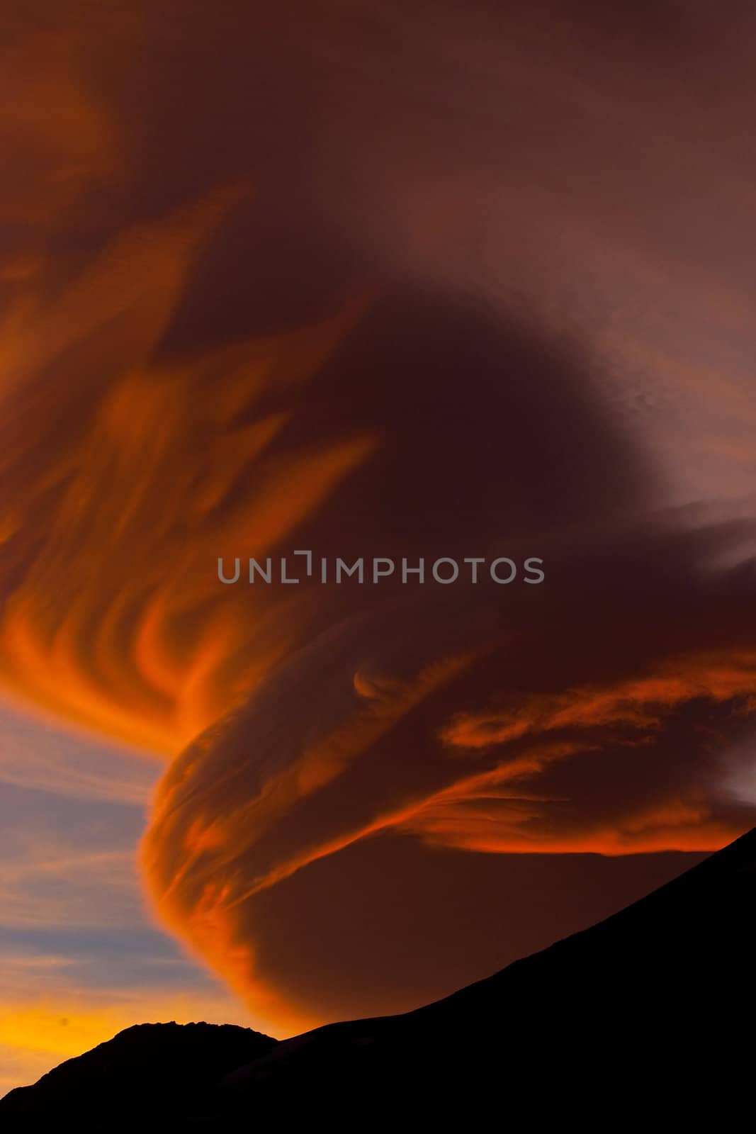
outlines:
[[[0,1086],[409,1009],[749,829],[750,6],[6,15]],[[545,577],[219,582],[296,549]]]

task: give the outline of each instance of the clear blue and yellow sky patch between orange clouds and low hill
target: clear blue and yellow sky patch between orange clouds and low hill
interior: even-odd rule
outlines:
[[[145,1019],[246,1023],[146,915],[134,847],[154,760],[5,705],[0,1089]]]

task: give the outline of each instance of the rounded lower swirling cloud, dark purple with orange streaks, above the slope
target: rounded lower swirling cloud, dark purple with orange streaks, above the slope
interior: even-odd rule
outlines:
[[[417,924],[387,897],[398,839],[421,840],[408,860],[417,869],[424,857],[418,873],[438,888],[453,877],[438,848],[700,852],[753,822],[727,761],[756,708],[753,583],[706,569],[721,531],[632,530],[613,545],[610,534],[600,551],[577,540],[561,556],[552,549],[561,577],[529,601],[502,600],[491,585],[443,599],[416,589],[367,621],[342,623],[173,762],[144,844],[148,882],[169,924],[261,1023],[385,1007],[384,985],[376,993],[371,982],[375,946],[355,936],[350,887],[365,888],[355,900],[379,940],[376,909],[394,931],[401,923],[413,958],[434,956],[426,995],[452,985],[438,923]],[[362,882],[358,845],[371,862]],[[500,874],[511,870],[504,860]],[[312,898],[323,897],[323,871],[343,898],[329,907],[342,978],[328,991],[305,975],[324,933]],[[470,858],[468,900],[484,906],[500,886]],[[551,900],[547,886],[540,897]],[[448,894],[450,914],[458,900]],[[300,951],[287,943],[292,924]],[[465,937],[453,917],[445,930]],[[392,1006],[416,1002],[414,959],[381,964],[384,980],[393,973]]]

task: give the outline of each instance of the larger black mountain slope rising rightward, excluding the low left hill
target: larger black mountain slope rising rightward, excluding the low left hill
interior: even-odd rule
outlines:
[[[551,1107],[579,1105],[584,1116],[606,1095],[677,1112],[686,1100],[724,1106],[756,1066],[755,964],[756,830],[444,1000],[280,1043],[227,1078],[230,1106],[284,1098],[288,1084],[329,1106],[367,1095],[469,1112],[512,1090],[536,1108],[545,1090]]]

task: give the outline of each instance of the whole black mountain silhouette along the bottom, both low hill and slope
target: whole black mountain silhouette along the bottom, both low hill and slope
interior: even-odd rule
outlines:
[[[756,830],[424,1008],[286,1041],[144,1024],[11,1091],[0,1120],[108,1131],[168,1116],[171,1129],[445,1118],[487,1129],[526,1115],[536,1129],[630,1118],[676,1129],[713,1112],[727,1129],[753,1077],[755,898]]]

